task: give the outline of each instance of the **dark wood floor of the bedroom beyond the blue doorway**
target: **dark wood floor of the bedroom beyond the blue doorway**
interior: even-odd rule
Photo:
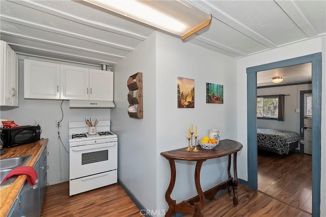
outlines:
[[[309,154],[258,151],[258,190],[311,213],[312,159]]]

